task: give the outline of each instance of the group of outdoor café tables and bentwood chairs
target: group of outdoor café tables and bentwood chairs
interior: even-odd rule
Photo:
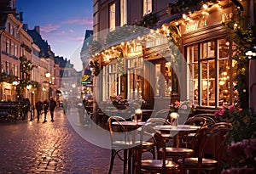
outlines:
[[[171,109],[161,109],[146,121],[109,116],[112,154],[108,173],[115,160],[122,160],[123,173],[232,173],[228,172],[233,164],[228,150],[237,129],[232,121],[218,117],[218,110],[215,115],[189,116],[183,124],[173,121],[173,115],[178,119]],[[247,170],[253,169],[248,166]]]

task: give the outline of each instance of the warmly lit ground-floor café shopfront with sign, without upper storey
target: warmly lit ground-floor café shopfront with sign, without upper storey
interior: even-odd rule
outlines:
[[[147,34],[119,39],[96,53],[102,70],[96,83],[101,88],[98,101],[120,96],[129,104],[143,101],[148,109],[166,109],[176,100],[212,110],[236,105],[237,45],[225,24],[234,20],[240,7],[232,2],[206,4],[193,13],[160,20]],[[173,52],[173,43],[180,53]]]

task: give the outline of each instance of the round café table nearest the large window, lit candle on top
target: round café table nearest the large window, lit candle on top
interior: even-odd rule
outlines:
[[[159,130],[160,132],[169,132],[168,135],[170,135],[170,138],[173,138],[173,147],[178,147],[178,132],[196,132],[198,129],[201,128],[201,126],[194,126],[194,125],[158,125],[154,126],[155,129]]]

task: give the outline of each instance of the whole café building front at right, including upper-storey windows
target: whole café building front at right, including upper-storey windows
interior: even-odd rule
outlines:
[[[240,62],[233,57],[240,46],[231,35],[236,28],[227,26],[241,11],[247,19],[243,25],[251,21],[254,27],[253,1],[205,1],[183,11],[177,5],[177,1],[94,1],[94,39],[102,45],[94,56],[101,66],[96,84],[102,86],[97,94],[100,101],[138,96],[150,109],[166,109],[176,100],[216,109],[237,104],[248,93],[253,96],[254,86],[248,87],[254,84],[252,77],[248,81],[252,71],[244,78],[247,87],[239,91]],[[109,42],[113,33],[128,31],[125,24],[151,30]],[[254,70],[254,60],[250,62]],[[242,101],[243,108],[255,108],[253,101],[247,102]]]

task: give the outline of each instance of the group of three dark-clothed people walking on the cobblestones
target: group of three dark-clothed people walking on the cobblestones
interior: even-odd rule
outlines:
[[[44,103],[38,101],[38,107],[37,107],[37,110],[38,110],[38,121],[39,121],[39,115],[41,114],[41,111],[40,109],[43,109],[43,106],[44,106],[44,122],[45,123],[47,120],[46,120],[46,115],[47,115],[47,112],[48,112],[48,109],[49,109],[49,114],[50,114],[50,117],[51,117],[51,121],[53,122],[54,121],[54,111],[55,111],[55,107],[56,107],[56,102],[55,100],[53,99],[53,97],[50,97],[49,98],[49,102],[46,100],[44,100]],[[42,106],[41,106],[42,105]]]

